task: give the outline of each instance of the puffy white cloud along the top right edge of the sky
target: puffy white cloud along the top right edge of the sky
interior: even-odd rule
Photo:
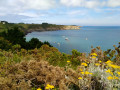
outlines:
[[[120,0],[60,0],[60,3],[65,6],[86,8],[120,6]]]

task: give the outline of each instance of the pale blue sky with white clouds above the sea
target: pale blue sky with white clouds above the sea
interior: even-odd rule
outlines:
[[[120,26],[120,0],[0,0],[0,21]]]

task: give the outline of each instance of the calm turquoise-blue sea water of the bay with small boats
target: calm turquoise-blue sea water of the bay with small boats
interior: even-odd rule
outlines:
[[[72,49],[89,53],[91,46],[100,46],[102,50],[114,49],[120,42],[120,27],[117,26],[84,26],[80,30],[58,30],[47,32],[32,32],[26,35],[26,40],[38,38],[49,41],[60,52],[71,53]],[[65,40],[68,38],[68,40]]]

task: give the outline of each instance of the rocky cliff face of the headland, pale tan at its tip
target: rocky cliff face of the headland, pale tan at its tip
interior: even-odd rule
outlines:
[[[27,30],[27,33],[33,32],[33,31],[55,31],[55,30],[77,30],[80,29],[80,26],[73,26],[73,25],[56,25],[52,27],[37,27],[37,28],[31,28]]]

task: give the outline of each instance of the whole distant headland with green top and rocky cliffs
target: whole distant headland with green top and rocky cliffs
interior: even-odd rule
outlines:
[[[56,25],[56,24],[25,24],[25,23],[8,23],[7,21],[0,21],[0,32],[10,29],[12,27],[19,27],[26,34],[33,31],[55,31],[55,30],[77,30],[81,26],[76,25]]]

